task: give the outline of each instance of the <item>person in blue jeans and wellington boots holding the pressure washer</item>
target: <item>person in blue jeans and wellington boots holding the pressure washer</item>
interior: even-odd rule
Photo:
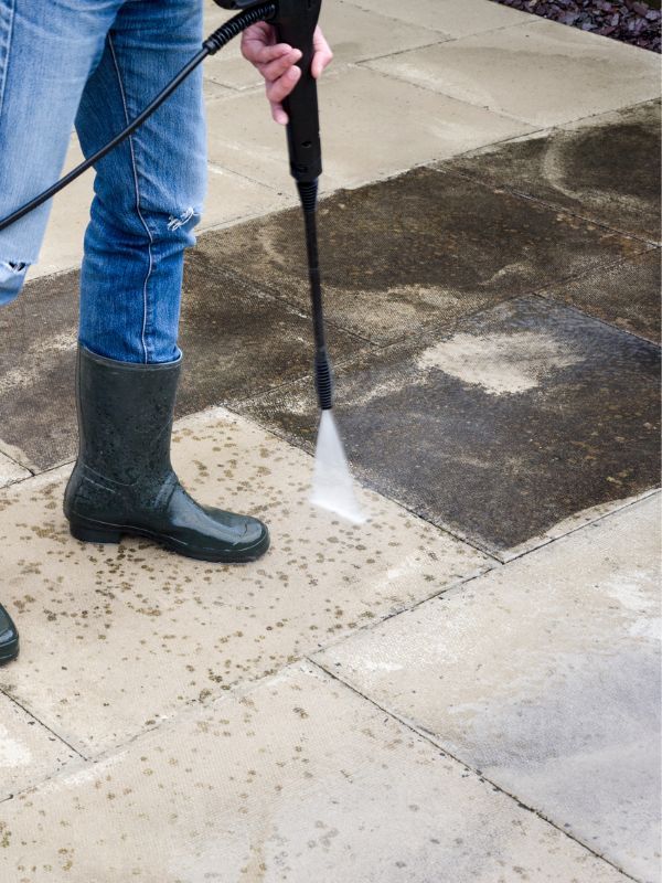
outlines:
[[[58,177],[74,125],[90,156],[203,38],[203,0],[0,0],[0,217]],[[242,53],[286,124],[300,52],[260,22],[244,32]],[[313,76],[331,57],[318,28]],[[64,511],[78,540],[137,534],[204,561],[248,562],[267,551],[267,526],[199,504],[170,464],[183,251],[195,243],[205,195],[202,77],[201,66],[95,167],[81,272],[79,450]],[[44,205],[0,233],[0,306],[19,295],[47,215]],[[18,643],[0,607],[0,663]]]

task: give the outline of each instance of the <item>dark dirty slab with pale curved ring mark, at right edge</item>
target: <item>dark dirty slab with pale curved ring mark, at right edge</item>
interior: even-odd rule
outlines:
[[[660,241],[660,102],[447,160],[444,169]]]

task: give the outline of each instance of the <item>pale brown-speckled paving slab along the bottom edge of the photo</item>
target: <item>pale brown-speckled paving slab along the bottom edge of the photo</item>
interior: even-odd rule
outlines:
[[[318,668],[0,805],[17,883],[620,883]]]

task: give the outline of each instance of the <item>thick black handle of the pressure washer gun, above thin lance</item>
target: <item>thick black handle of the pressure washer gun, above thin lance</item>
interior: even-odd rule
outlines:
[[[300,182],[312,182],[322,173],[322,146],[317,82],[310,72],[314,49],[312,38],[320,17],[321,0],[279,0],[273,23],[278,41],[301,50],[301,77],[282,106],[289,117],[287,142],[290,172]]]

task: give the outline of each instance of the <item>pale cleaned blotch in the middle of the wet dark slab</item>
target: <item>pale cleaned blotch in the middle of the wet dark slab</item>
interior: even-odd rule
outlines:
[[[553,371],[569,368],[581,355],[537,331],[489,336],[459,332],[429,347],[418,357],[424,371],[438,369],[493,395],[533,390]]]

